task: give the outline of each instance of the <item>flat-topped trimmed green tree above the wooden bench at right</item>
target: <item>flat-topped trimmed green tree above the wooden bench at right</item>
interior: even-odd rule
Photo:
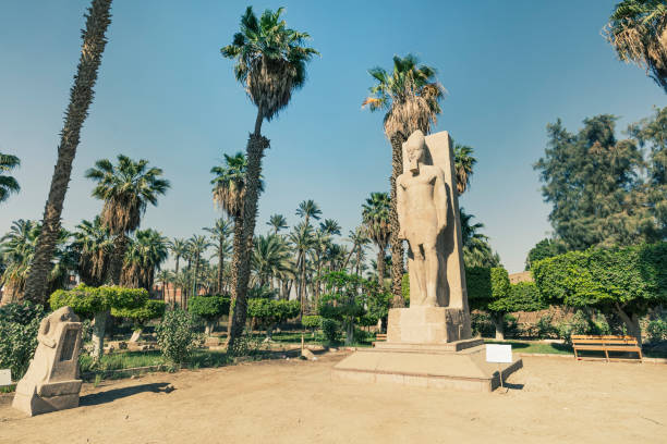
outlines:
[[[640,343],[640,317],[667,303],[667,243],[570,251],[532,272],[545,300],[616,313]]]

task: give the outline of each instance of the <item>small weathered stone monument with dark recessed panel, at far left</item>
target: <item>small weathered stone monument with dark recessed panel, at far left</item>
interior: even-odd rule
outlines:
[[[16,385],[12,406],[29,416],[78,406],[81,322],[62,307],[39,324],[37,349],[27,372]]]

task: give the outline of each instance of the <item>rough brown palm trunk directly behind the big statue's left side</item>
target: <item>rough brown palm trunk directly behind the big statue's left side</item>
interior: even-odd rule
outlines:
[[[393,298],[391,306],[400,308],[405,306],[403,300],[402,282],[403,282],[403,240],[399,239],[400,224],[398,221],[398,211],[396,209],[396,181],[403,173],[403,143],[405,136],[402,133],[397,133],[391,137],[391,177],[389,184],[391,188],[391,202],[389,207],[389,227],[391,230],[391,294]],[[378,264],[379,268],[379,264]]]

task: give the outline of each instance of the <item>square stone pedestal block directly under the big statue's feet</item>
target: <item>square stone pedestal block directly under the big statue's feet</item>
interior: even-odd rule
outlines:
[[[442,344],[468,340],[470,317],[449,307],[392,308],[387,322],[387,342]]]

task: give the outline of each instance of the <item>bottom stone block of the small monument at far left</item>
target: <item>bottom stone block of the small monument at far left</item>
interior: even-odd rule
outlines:
[[[12,407],[29,416],[78,407],[81,384],[81,380],[72,380],[37,386],[22,380],[16,385]]]

